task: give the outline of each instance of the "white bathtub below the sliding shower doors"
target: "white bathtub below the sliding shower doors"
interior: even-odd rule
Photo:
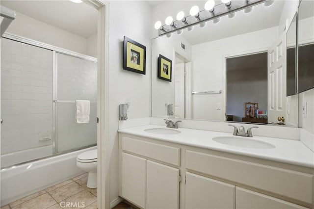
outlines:
[[[2,169],[0,171],[1,207],[84,173],[77,167],[76,158],[80,153],[96,148],[94,146]]]

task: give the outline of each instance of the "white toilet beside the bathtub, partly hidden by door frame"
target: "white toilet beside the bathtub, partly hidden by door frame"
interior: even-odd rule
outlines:
[[[79,154],[77,166],[88,172],[87,187],[97,188],[97,149]]]

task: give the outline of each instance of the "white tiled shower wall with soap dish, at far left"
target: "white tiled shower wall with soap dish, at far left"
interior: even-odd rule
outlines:
[[[1,38],[1,154],[52,144],[52,51]]]

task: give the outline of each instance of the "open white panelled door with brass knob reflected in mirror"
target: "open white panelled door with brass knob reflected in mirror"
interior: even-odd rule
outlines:
[[[268,50],[268,123],[286,116],[286,32]]]

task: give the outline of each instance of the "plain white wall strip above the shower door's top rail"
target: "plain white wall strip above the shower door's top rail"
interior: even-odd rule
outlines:
[[[6,32],[74,52],[87,53],[87,40],[85,38],[30,18],[19,12],[16,12],[16,18]],[[94,52],[97,52],[97,48],[91,50],[91,47],[89,47],[88,52],[91,53],[92,51],[94,54]]]

